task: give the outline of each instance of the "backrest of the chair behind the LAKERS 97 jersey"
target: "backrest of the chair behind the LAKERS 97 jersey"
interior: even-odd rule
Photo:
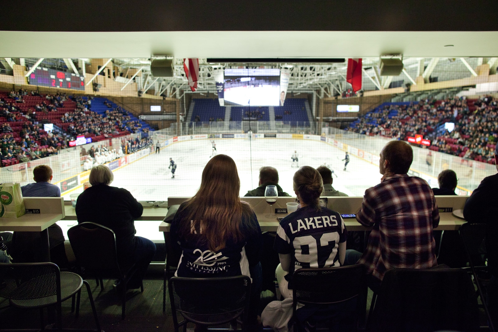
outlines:
[[[332,304],[357,297],[365,286],[362,264],[298,269],[292,275],[294,302]]]

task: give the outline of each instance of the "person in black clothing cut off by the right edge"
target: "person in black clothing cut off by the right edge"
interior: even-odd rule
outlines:
[[[495,147],[495,165],[498,170],[498,145]],[[486,223],[486,250],[488,269],[492,273],[487,292],[488,310],[498,326],[498,173],[481,181],[472,192],[464,207],[465,220],[470,223]]]

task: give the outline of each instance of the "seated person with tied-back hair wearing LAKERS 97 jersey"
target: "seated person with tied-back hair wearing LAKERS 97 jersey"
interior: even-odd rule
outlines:
[[[341,266],[346,257],[347,230],[341,215],[320,207],[320,173],[301,167],[294,174],[293,187],[301,207],[280,221],[273,246],[280,257],[275,275],[284,298],[292,298],[296,269]]]

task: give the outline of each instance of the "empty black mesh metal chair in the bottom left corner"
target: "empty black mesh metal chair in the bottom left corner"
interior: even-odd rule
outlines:
[[[97,311],[88,282],[72,272],[60,272],[54,263],[0,263],[0,297],[8,299],[12,307],[23,309],[40,309],[40,328],[45,329],[43,323],[43,308],[56,306],[57,326],[62,329],[61,303],[78,293],[76,317],[80,306],[81,287],[85,284],[90,298],[90,305],[97,325],[101,331]],[[75,331],[64,329],[64,331]]]

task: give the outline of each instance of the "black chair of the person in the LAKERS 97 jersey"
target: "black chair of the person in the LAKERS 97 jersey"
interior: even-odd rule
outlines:
[[[310,317],[315,323],[322,316],[330,321],[331,327],[339,324],[342,331],[345,327],[356,331],[360,315],[365,315],[364,291],[365,266],[362,264],[298,269],[292,275],[294,331],[300,331],[299,321],[308,321],[296,313],[298,303],[304,304],[304,308],[316,308]]]

